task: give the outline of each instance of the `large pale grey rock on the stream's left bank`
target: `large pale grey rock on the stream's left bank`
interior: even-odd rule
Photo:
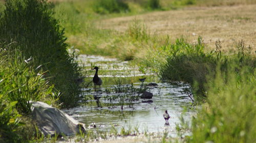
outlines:
[[[31,110],[32,118],[36,121],[40,131],[46,136],[55,133],[75,135],[80,130],[85,131],[84,124],[44,102],[32,102]]]

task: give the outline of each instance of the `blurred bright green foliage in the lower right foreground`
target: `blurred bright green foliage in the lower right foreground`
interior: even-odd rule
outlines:
[[[255,69],[229,64],[209,76],[207,100],[192,122],[185,142],[254,142],[256,135]]]

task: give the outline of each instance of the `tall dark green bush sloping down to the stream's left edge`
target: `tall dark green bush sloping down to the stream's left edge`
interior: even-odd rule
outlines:
[[[10,0],[5,3],[0,21],[0,42],[15,41],[26,59],[35,67],[42,65],[46,77],[61,92],[63,106],[75,106],[80,93],[76,79],[80,76],[75,56],[67,52],[66,37],[53,18],[52,5],[45,0]],[[7,50],[12,50],[7,47]],[[65,71],[65,72],[64,72]]]

